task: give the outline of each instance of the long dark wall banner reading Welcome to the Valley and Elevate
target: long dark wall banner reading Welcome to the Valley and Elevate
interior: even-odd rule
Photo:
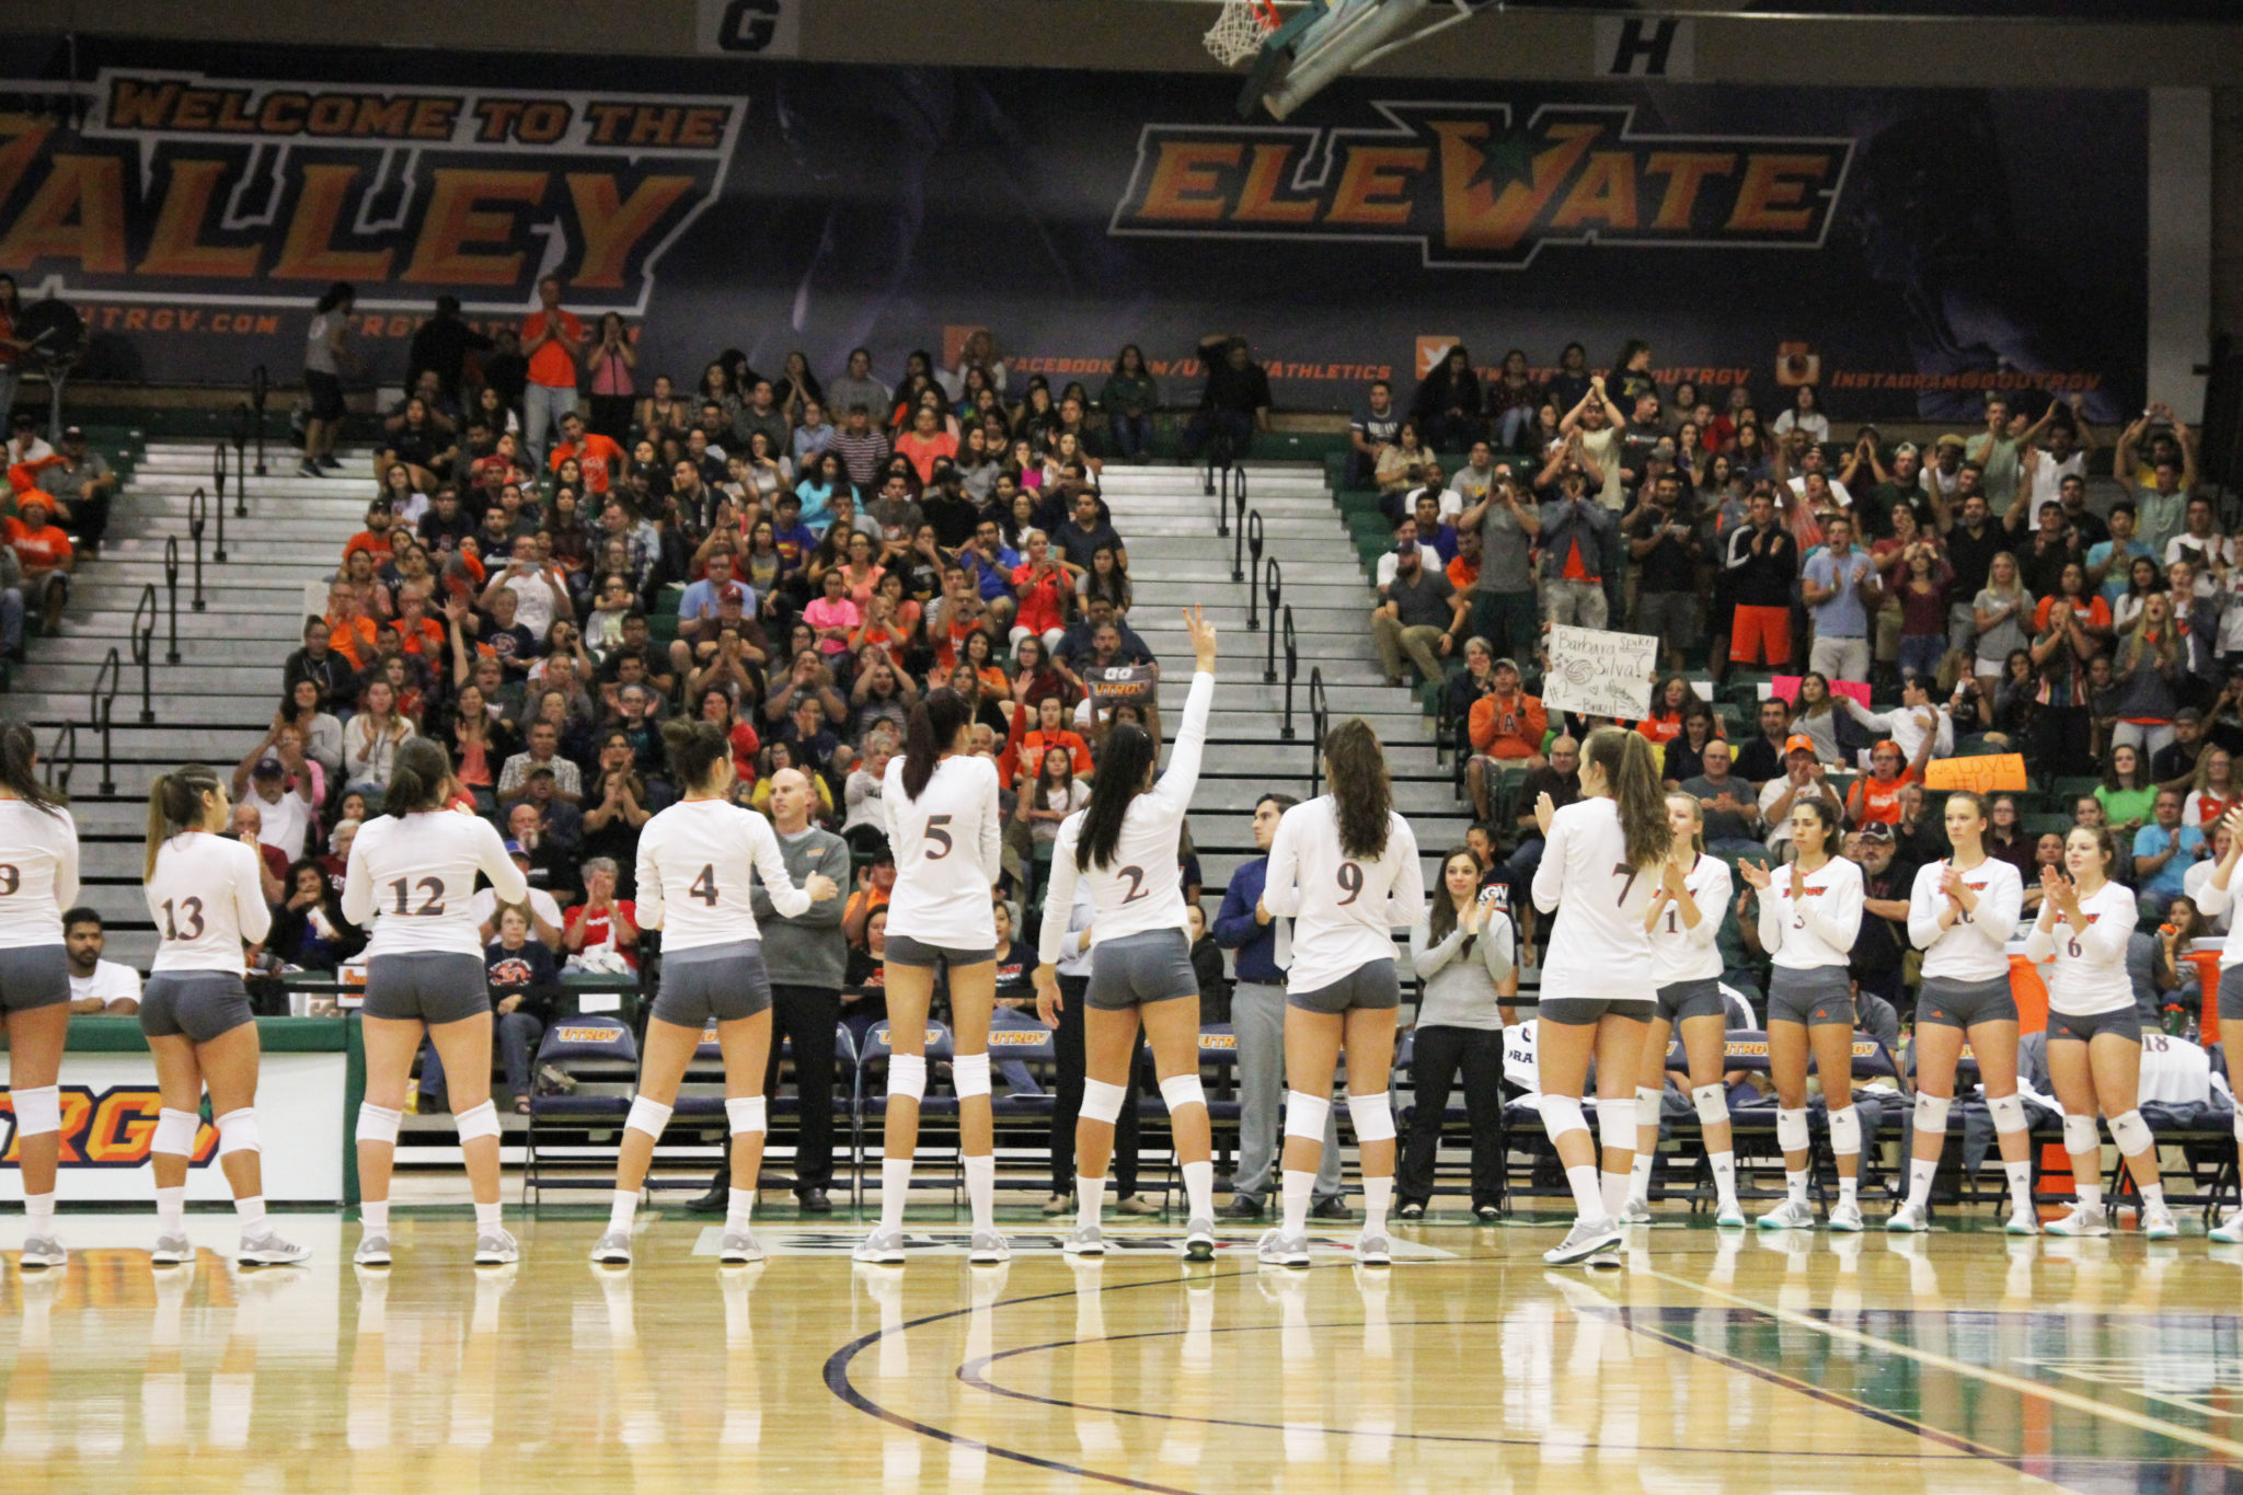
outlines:
[[[350,280],[395,381],[435,296],[493,327],[554,273],[641,390],[727,347],[893,383],[989,327],[1092,392],[1139,343],[1166,403],[1207,332],[1301,408],[1631,336],[1716,406],[1817,383],[1839,430],[2142,403],[2142,92],[1344,78],[1240,126],[1198,76],[83,49],[74,108],[0,114],[0,271],[83,307],[92,377],[294,383]]]

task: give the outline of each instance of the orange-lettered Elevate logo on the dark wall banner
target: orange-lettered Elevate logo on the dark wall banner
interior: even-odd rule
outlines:
[[[1819,249],[1850,139],[1637,134],[1633,105],[1375,103],[1391,128],[1146,126],[1115,235],[1415,242],[1523,269],[1543,244]]]

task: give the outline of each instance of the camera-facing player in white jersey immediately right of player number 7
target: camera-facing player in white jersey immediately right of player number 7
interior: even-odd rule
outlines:
[[[1698,1107],[1705,1157],[1720,1195],[1714,1224],[1741,1228],[1745,1210],[1736,1204],[1729,1092],[1720,1083],[1729,1013],[1720,995],[1720,948],[1714,944],[1729,912],[1729,863],[1705,854],[1705,809],[1696,796],[1667,796],[1667,829],[1673,832],[1673,847],[1644,914],[1660,1002],[1644,1031],[1644,1062],[1635,1080],[1635,1186],[1622,1219],[1651,1219],[1651,1168],[1658,1163],[1660,1103],[1667,1096],[1667,1038],[1680,1033],[1689,1098]]]

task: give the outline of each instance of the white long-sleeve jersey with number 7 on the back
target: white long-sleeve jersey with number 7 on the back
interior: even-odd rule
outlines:
[[[1658,995],[1651,935],[1644,932],[1658,881],[1658,867],[1628,863],[1628,838],[1613,800],[1577,800],[1550,816],[1543,858],[1534,867],[1534,908],[1548,914],[1563,899],[1566,917],[1543,950],[1543,1002],[1649,1002]]]

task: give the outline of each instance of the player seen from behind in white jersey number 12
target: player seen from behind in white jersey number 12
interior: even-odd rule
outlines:
[[[460,1154],[476,1195],[476,1264],[520,1257],[498,1210],[491,1105],[491,991],[476,930],[476,874],[500,903],[529,883],[487,820],[444,809],[451,758],[428,737],[397,749],[384,814],[359,827],[343,870],[343,917],[366,941],[366,1101],[359,1105],[359,1266],[390,1264],[390,1166],[422,1033],[451,1083]]]

